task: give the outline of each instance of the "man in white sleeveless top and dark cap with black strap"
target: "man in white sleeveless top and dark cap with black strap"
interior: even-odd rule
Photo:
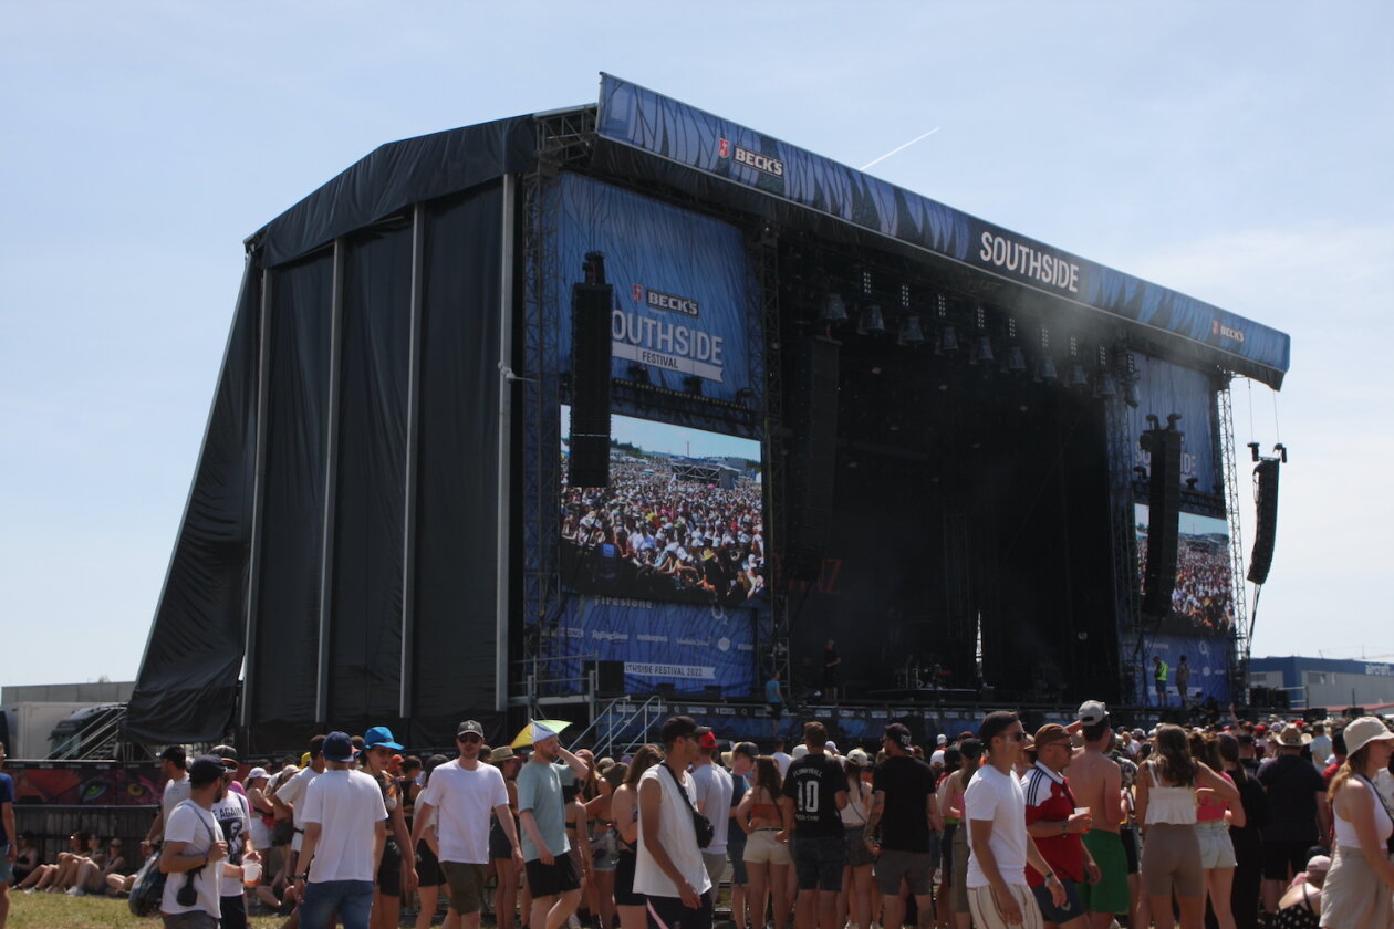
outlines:
[[[711,877],[697,845],[694,787],[687,773],[710,731],[690,716],[666,720],[659,735],[666,758],[638,780],[634,891],[648,897],[651,929],[677,923],[682,929],[711,929]]]

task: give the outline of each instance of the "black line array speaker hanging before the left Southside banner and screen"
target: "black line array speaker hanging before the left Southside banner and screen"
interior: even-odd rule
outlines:
[[[585,255],[585,283],[572,284],[573,487],[609,485],[611,306],[605,255]]]

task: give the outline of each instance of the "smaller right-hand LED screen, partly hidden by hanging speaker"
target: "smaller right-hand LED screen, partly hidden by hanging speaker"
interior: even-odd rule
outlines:
[[[1136,504],[1138,582],[1147,564],[1147,507]],[[1214,517],[1182,513],[1177,532],[1177,586],[1167,632],[1230,632],[1234,627],[1234,568],[1230,561],[1230,525]]]

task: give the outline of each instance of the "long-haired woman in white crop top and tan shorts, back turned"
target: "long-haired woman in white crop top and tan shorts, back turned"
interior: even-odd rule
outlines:
[[[1157,929],[1171,929],[1171,897],[1181,907],[1181,929],[1200,929],[1206,918],[1204,871],[1196,834],[1196,787],[1216,801],[1239,802],[1239,790],[1190,756],[1186,731],[1157,727],[1157,751],[1138,776],[1138,822],[1143,830],[1142,884]]]

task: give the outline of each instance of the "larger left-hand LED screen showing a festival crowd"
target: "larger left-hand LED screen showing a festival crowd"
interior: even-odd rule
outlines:
[[[573,487],[562,408],[562,581],[583,593],[740,606],[765,591],[760,443],[611,418],[608,487]]]

